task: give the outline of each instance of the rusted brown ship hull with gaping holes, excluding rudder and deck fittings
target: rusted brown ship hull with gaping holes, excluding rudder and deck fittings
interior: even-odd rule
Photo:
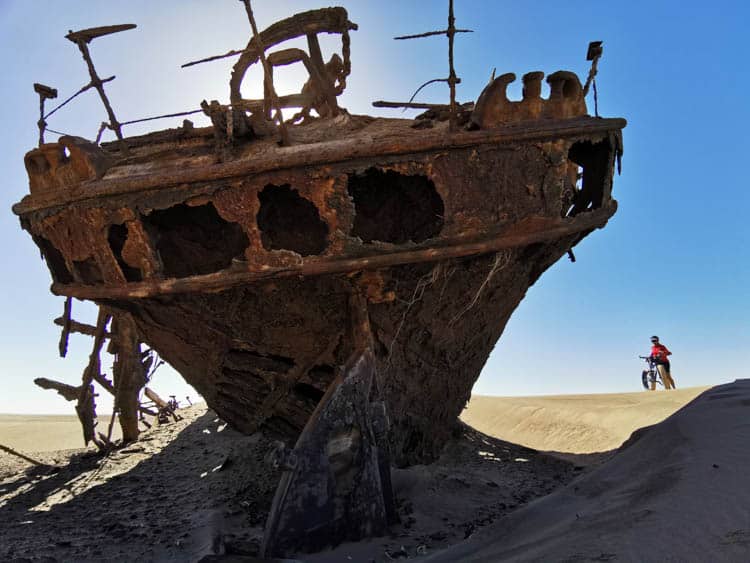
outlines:
[[[410,123],[343,115],[223,162],[210,130],[127,154],[63,138],[27,155],[15,211],[55,293],[131,312],[243,432],[297,435],[352,353],[362,293],[392,451],[427,461],[528,287],[614,213],[624,120]]]

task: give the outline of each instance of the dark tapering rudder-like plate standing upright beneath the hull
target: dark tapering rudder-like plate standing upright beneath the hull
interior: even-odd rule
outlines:
[[[385,533],[397,519],[367,301],[350,298],[354,351],[284,459],[261,546],[264,557],[319,551]],[[278,456],[278,454],[277,454]]]

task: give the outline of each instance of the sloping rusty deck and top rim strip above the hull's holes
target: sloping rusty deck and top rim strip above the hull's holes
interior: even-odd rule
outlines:
[[[410,119],[374,118],[342,114],[289,128],[290,146],[272,138],[254,139],[236,147],[232,158],[217,161],[213,127],[170,129],[105,143],[111,165],[96,179],[24,197],[13,206],[17,215],[123,195],[169,188],[185,183],[213,182],[305,166],[357,159],[419,154],[479,145],[503,145],[576,136],[596,136],[622,130],[623,118],[581,116],[572,119],[522,121],[490,130],[450,133],[447,122],[417,129]]]

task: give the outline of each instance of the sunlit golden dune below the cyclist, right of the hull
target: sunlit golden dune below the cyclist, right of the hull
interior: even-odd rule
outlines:
[[[544,397],[473,396],[461,419],[480,432],[535,450],[606,452],[620,447],[638,428],[661,422],[707,389]]]

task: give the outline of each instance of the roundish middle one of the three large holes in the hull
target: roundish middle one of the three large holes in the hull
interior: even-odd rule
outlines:
[[[291,250],[301,256],[320,254],[328,244],[328,225],[315,205],[289,184],[269,184],[258,194],[258,228],[266,250]]]

